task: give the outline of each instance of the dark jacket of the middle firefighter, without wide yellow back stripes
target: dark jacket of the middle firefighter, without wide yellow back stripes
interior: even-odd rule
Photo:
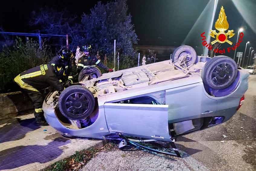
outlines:
[[[50,65],[53,67],[58,68],[65,68],[65,71],[63,73],[63,76],[68,76],[68,79],[73,79],[73,73],[72,73],[72,64],[71,60],[63,60],[59,56],[53,57],[53,59],[49,62]]]

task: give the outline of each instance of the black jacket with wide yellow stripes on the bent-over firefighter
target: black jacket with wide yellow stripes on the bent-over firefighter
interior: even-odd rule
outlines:
[[[38,90],[53,86],[56,90],[64,89],[60,83],[53,67],[50,64],[36,66],[21,72],[14,81],[23,89],[39,92]]]

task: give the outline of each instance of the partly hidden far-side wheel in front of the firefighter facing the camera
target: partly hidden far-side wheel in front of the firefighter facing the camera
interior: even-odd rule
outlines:
[[[101,71],[96,67],[86,67],[83,68],[79,75],[78,75],[78,81],[82,81],[83,78],[87,77],[87,80],[91,80],[92,78],[98,78],[101,76]]]

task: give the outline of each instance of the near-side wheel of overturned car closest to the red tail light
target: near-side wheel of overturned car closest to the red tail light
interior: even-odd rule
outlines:
[[[235,81],[237,71],[237,65],[232,58],[216,56],[207,61],[203,68],[203,83],[217,90],[227,88]]]

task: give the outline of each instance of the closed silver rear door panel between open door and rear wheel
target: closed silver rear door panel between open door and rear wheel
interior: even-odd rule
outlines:
[[[216,100],[206,96],[202,82],[166,90],[169,123],[186,121],[214,114]]]

